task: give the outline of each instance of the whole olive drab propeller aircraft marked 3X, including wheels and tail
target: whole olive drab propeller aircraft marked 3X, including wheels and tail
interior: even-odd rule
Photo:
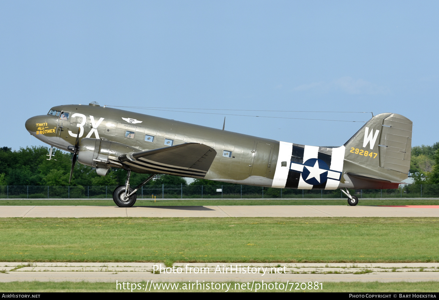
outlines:
[[[73,153],[105,176],[128,171],[113,193],[131,207],[136,191],[156,174],[288,189],[396,189],[410,168],[412,121],[378,114],[343,146],[318,147],[263,139],[220,129],[101,107],[97,103],[52,107],[29,118],[26,129],[44,143]],[[136,188],[131,171],[151,174]]]

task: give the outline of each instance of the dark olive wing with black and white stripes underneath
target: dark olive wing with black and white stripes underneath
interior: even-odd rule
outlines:
[[[216,151],[212,147],[198,143],[185,143],[122,154],[119,156],[119,161],[151,173],[204,178],[215,156]]]

